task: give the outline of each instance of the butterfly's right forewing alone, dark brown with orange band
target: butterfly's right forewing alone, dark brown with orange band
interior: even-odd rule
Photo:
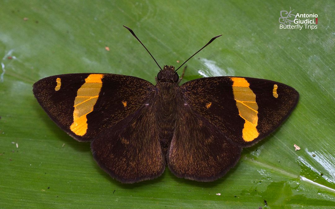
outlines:
[[[241,147],[274,131],[295,107],[299,94],[282,83],[246,77],[210,77],[181,86],[185,101]]]

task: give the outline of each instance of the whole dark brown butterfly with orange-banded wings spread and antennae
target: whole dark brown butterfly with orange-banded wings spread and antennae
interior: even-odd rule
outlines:
[[[156,85],[125,75],[56,75],[37,81],[33,92],[50,118],[90,142],[97,164],[122,183],[157,178],[166,166],[179,178],[214,181],[236,165],[243,147],[273,132],[299,97],[285,84],[248,77],[180,86],[177,70],[160,68]]]

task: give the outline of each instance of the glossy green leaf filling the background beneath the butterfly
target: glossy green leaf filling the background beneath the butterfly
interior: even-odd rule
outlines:
[[[290,7],[318,14],[318,28],[279,29],[280,11]],[[334,8],[334,1],[311,0],[2,1],[0,207],[264,208],[266,200],[269,208],[333,208]],[[294,87],[299,103],[215,182],[179,179],[166,169],[155,180],[121,184],[97,166],[88,143],[49,119],[31,89],[47,76],[83,72],[154,83],[157,66],[122,25],[160,65],[178,66],[223,34],[187,63],[183,82],[264,78]]]

